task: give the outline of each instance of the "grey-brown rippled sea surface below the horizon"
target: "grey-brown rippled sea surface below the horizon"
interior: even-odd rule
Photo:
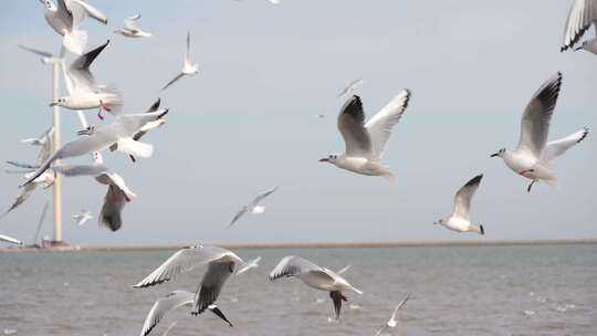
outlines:
[[[175,251],[0,253],[0,335],[138,335],[155,300],[195,291],[202,269],[136,290]],[[390,335],[597,335],[597,245],[378,249],[239,249],[259,269],[232,276],[209,312],[170,312],[150,335],[375,335],[408,293]],[[338,270],[364,294],[346,293],[339,322],[325,292],[297,279],[268,281],[289,254]]]

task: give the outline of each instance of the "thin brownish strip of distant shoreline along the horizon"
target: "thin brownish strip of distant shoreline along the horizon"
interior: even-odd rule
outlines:
[[[582,245],[597,244],[597,238],[562,240],[495,240],[495,241],[419,241],[419,242],[345,242],[345,243],[268,243],[268,244],[220,244],[227,249],[383,249],[383,248],[446,248],[446,246],[524,246],[524,245]],[[139,245],[139,246],[81,246],[34,249],[0,248],[1,252],[109,252],[109,251],[163,251],[178,250],[185,245]]]

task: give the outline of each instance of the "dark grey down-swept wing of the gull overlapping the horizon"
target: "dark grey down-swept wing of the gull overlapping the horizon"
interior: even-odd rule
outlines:
[[[234,261],[214,260],[209,263],[206,275],[195,294],[192,314],[201,314],[218,300],[226,281],[234,272]]]

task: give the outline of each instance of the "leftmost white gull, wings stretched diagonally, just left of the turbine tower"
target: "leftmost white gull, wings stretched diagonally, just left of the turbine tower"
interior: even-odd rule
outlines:
[[[45,160],[48,160],[48,158],[52,154],[52,136],[51,136],[52,133],[53,133],[53,128],[50,128],[41,136],[43,139],[40,140],[40,143],[43,143],[43,145],[41,145],[41,149],[35,159],[35,164],[31,165],[32,168],[34,167],[33,169],[41,166]],[[27,172],[23,177],[27,180],[31,178],[33,172]],[[53,183],[54,183],[54,176],[51,174],[43,172],[40,176],[35,177],[34,179],[31,180],[31,183],[29,183],[28,186],[25,186],[19,191],[19,195],[17,196],[17,199],[14,200],[12,206],[10,206],[10,208],[2,216],[0,216],[0,219],[4,218],[8,213],[17,209],[24,201],[27,201],[29,197],[31,197],[33,191],[35,191],[35,188],[38,186],[42,186],[45,189],[45,188],[50,188]]]

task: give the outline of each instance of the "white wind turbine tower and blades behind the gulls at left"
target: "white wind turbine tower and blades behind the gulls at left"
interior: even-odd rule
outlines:
[[[54,55],[51,52],[24,46],[21,44],[19,44],[19,48],[41,56],[41,62],[43,64],[52,65],[52,102],[55,102],[60,97],[59,76],[60,76],[61,71],[62,71],[62,74],[64,75],[66,91],[69,92],[69,94],[72,93],[73,88],[71,87],[70,81],[66,80],[66,70],[64,67],[64,53],[65,53],[64,46],[61,46],[59,55]],[[85,119],[83,112],[77,111],[77,114],[78,114],[78,119],[81,124],[83,125],[83,128],[87,128],[88,126],[87,120]],[[54,134],[52,138],[52,153],[54,153],[61,146],[60,144],[60,106],[57,105],[53,106],[52,123],[54,126]],[[54,234],[52,237],[52,245],[64,246],[65,244],[62,242],[62,177],[60,175],[56,176],[52,190],[53,190],[53,210],[54,210]]]

